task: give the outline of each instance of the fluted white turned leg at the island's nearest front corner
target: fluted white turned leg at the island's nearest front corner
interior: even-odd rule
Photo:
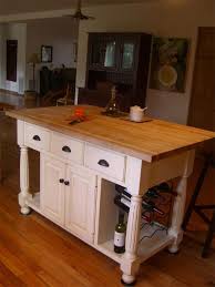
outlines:
[[[123,271],[122,281],[125,284],[133,284],[135,281],[135,275],[140,267],[137,247],[140,240],[141,214],[142,196],[133,195],[127,221],[125,254],[121,264],[121,270]]]

